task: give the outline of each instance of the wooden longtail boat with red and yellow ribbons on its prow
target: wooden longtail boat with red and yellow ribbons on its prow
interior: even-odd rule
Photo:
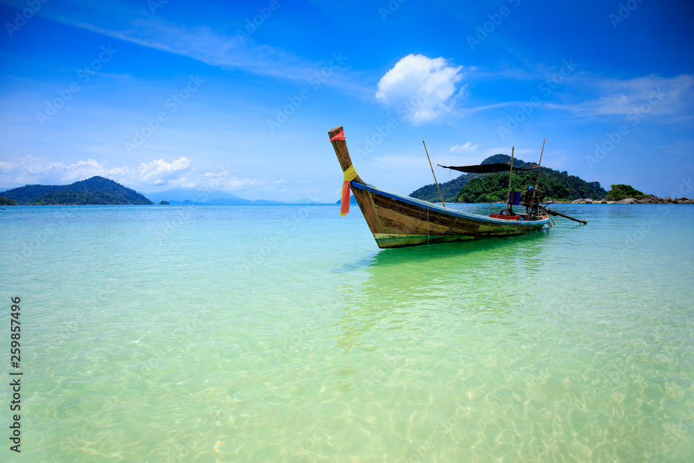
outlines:
[[[443,201],[442,205],[438,205],[381,190],[365,183],[357,174],[347,150],[344,129],[332,128],[328,135],[344,174],[340,213],[344,215],[349,212],[352,190],[379,248],[525,235],[539,231],[550,223],[550,217],[545,215],[541,206],[538,207],[541,199],[535,198],[534,193],[532,204],[528,204],[525,214],[489,214],[486,217],[446,208]],[[514,169],[512,159],[510,165],[486,166],[486,169],[500,169],[497,171],[512,172]]]

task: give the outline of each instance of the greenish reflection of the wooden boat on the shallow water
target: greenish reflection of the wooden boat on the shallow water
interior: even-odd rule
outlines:
[[[343,312],[332,330],[335,387],[396,387],[426,369],[464,369],[480,323],[536,314],[537,289],[523,282],[546,271],[541,255],[550,233],[384,249],[336,269],[365,267],[366,279],[344,285],[335,301]],[[497,337],[489,341],[491,351],[504,348]]]

